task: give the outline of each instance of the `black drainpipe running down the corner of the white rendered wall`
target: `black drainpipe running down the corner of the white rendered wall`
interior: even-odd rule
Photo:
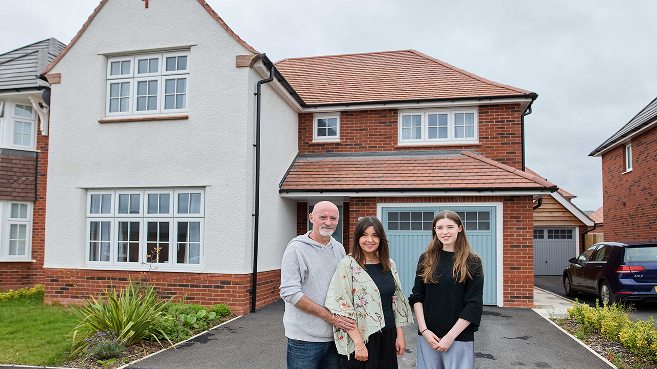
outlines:
[[[267,55],[258,54],[258,57],[269,67],[269,78],[258,81],[258,92],[256,92],[256,211],[253,230],[253,278],[251,284],[251,312],[256,311],[256,286],[258,284],[258,217],[260,216],[260,100],[261,85],[274,80],[274,66],[271,65]]]

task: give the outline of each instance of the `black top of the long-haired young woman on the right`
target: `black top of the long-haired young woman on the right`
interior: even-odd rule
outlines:
[[[479,329],[484,309],[484,269],[479,257],[468,258],[468,270],[472,279],[457,283],[458,278],[452,276],[453,255],[450,251],[440,252],[434,272],[434,280],[438,283],[424,284],[421,276],[415,276],[415,286],[409,303],[411,307],[415,303],[422,303],[426,328],[438,338],[445,336],[457,320],[463,318],[468,320],[470,325],[455,340],[474,341],[474,332]],[[424,253],[420,256],[418,267],[422,260]]]

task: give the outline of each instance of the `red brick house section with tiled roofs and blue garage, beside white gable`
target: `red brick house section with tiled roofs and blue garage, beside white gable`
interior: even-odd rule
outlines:
[[[533,201],[556,186],[524,169],[523,116],[535,93],[413,50],[284,59],[304,101],[298,156],[281,196],[342,207],[342,238],[376,215],[410,293],[431,220],[453,209],[484,259],[484,303],[533,305]],[[340,229],[341,225],[338,225]]]

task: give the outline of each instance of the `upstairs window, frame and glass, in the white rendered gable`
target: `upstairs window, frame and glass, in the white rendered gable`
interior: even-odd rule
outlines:
[[[108,58],[106,116],[187,112],[189,52]]]

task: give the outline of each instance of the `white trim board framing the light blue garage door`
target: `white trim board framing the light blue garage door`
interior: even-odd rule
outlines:
[[[496,244],[496,253],[495,257],[497,258],[497,306],[504,306],[504,204],[501,202],[377,202],[376,203],[376,217],[381,219],[382,208],[383,207],[416,207],[416,206],[437,206],[437,207],[447,207],[447,206],[494,206],[495,207],[495,244]]]

